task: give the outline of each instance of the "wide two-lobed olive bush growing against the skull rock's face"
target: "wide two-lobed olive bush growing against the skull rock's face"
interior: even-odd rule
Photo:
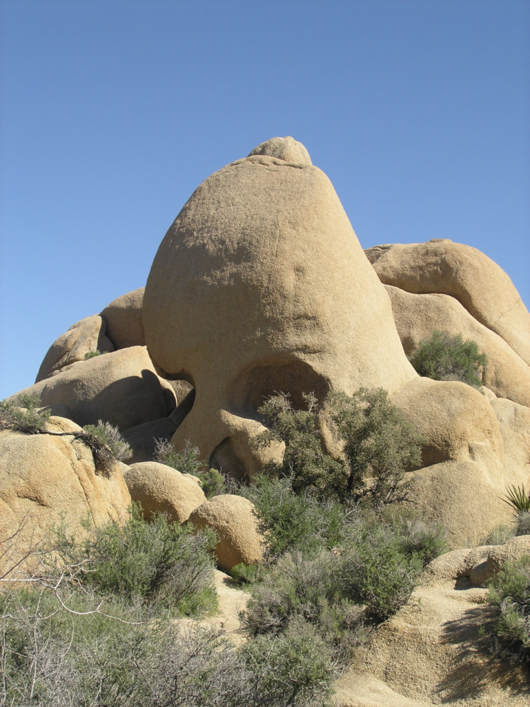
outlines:
[[[335,392],[326,398],[324,408],[343,443],[343,460],[324,450],[317,400],[312,394],[303,397],[305,410],[294,410],[283,393],[259,408],[269,429],[254,438],[254,447],[285,443],[281,464],[270,462],[264,473],[290,479],[297,493],[314,489],[341,501],[369,499],[378,508],[404,501],[404,475],[420,463],[421,440],[388,393],[360,388],[353,396]]]

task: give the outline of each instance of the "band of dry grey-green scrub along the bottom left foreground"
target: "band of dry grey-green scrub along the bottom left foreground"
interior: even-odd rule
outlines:
[[[236,650],[220,633],[67,590],[0,591],[0,704],[323,707],[333,666],[310,626]],[[69,609],[64,606],[68,604]],[[108,613],[112,612],[112,616]]]

